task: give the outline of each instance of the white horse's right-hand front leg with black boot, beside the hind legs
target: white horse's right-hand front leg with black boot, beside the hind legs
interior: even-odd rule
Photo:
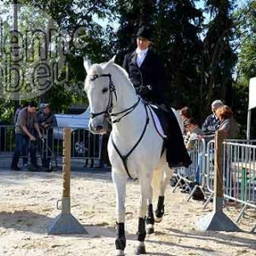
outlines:
[[[141,196],[139,205],[139,218],[138,218],[138,230],[137,230],[137,241],[138,245],[136,248],[136,255],[146,254],[145,248],[145,237],[146,237],[146,226],[145,217],[147,212],[147,200],[152,198],[152,188],[151,188],[151,178],[152,176],[139,177],[139,182],[141,186]]]

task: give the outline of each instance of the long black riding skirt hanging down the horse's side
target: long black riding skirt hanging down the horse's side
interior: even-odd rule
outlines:
[[[177,118],[172,109],[170,109],[168,119],[169,129],[166,143],[166,160],[168,165],[170,168],[181,166],[189,167],[192,161],[189,157],[188,150],[185,147],[182,131],[180,130]]]

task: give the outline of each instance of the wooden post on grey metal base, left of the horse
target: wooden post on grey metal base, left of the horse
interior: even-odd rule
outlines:
[[[49,227],[48,234],[86,234],[84,226],[73,217],[70,212],[70,166],[71,166],[71,129],[65,128],[63,133],[63,159],[62,159],[62,199],[61,213],[54,219]]]

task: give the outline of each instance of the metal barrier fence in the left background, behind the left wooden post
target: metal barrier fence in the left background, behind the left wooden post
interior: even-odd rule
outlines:
[[[41,129],[44,141],[37,137],[35,148],[37,155],[41,159],[62,158],[63,148],[62,127],[53,127],[47,130]],[[37,133],[35,132],[35,135]],[[72,131],[71,155],[73,158],[83,158],[85,165],[88,160],[102,159],[102,139],[100,135],[93,135],[88,130],[76,129]],[[15,151],[15,125],[0,126],[0,159],[11,158]],[[28,145],[24,142],[24,149],[20,153],[20,158],[27,157]]]

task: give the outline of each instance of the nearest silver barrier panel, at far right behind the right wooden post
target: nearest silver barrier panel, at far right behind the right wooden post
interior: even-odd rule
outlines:
[[[226,140],[224,142],[224,198],[241,203],[238,222],[247,207],[256,208],[256,141]],[[207,190],[211,193],[204,208],[213,196],[214,142],[207,144]]]

